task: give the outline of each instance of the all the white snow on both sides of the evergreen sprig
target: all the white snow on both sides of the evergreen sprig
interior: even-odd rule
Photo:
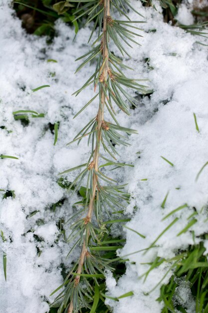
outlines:
[[[3,252],[7,255],[6,282],[0,261],[0,312],[45,313],[48,300],[53,298],[49,294],[62,282],[61,263],[70,266],[78,257],[75,251],[66,259],[70,245],[57,240],[61,231],[59,221],[68,219],[73,212],[72,203],[77,200],[65,193],[57,179],[58,172],[86,161],[89,155],[86,142],[78,147],[76,144],[66,147],[66,143],[86,120],[94,117],[97,107],[94,102],[85,115],[72,119],[93,96],[91,89],[77,98],[71,95],[93,71],[93,66],[86,66],[74,76],[77,67],[74,60],[89,49],[90,30],[81,29],[73,41],[74,30],[57,22],[57,36],[47,45],[45,38],[25,34],[9,2],[1,0],[0,4],[0,126],[4,126],[0,128],[0,153],[18,159],[0,159],[0,189],[15,193],[13,198],[0,198],[0,230],[6,239],[0,239],[0,259]],[[196,175],[208,161],[208,50],[195,43],[199,38],[164,23],[158,2],[155,2],[157,10],[144,8],[136,0],[132,3],[147,23],[142,24],[145,29],[140,39],[142,46],[135,45],[129,51],[132,59],[125,60],[135,68],[128,75],[148,78],[153,93],[141,99],[131,117],[118,112],[121,124],[139,132],[131,136],[131,147],[120,148],[121,161],[132,162],[135,167],[126,168],[125,174],[119,176],[120,179],[125,176],[132,194],[127,212],[133,218],[128,226],[146,236],[143,239],[127,231],[127,243],[121,255],[147,248],[175,217],[179,220],[158,240],[158,247],[146,254],[129,256],[126,274],[117,285],[111,274],[106,274],[111,296],[134,291],[131,298],[108,303],[114,313],[160,313],[162,304],[155,301],[159,287],[150,295],[145,292],[157,284],[167,268],[164,265],[152,271],[143,283],[139,276],[148,266],[141,263],[150,262],[157,255],[171,257],[178,248],[193,243],[190,231],[176,236],[187,225],[192,207],[199,214],[191,229],[196,235],[207,231],[207,212],[201,209],[208,202],[208,167],[197,181]],[[186,23],[190,15],[183,9],[180,22]],[[134,12],[130,17],[138,19]],[[44,84],[50,87],[32,92]],[[14,120],[12,114],[20,109],[35,110],[44,113],[44,117],[28,114],[29,124],[25,126]],[[194,113],[200,132],[196,130]],[[60,126],[54,146],[54,134],[49,126],[56,121]],[[141,180],[144,178],[147,180]],[[2,196],[5,193],[0,192]],[[165,208],[161,208],[167,192]],[[63,204],[57,205],[54,212],[51,206],[59,200]],[[185,203],[184,210],[161,221],[168,212]],[[208,248],[207,242],[205,246]],[[182,286],[180,292],[188,299],[186,288]],[[189,302],[189,313],[193,313],[193,303]]]

